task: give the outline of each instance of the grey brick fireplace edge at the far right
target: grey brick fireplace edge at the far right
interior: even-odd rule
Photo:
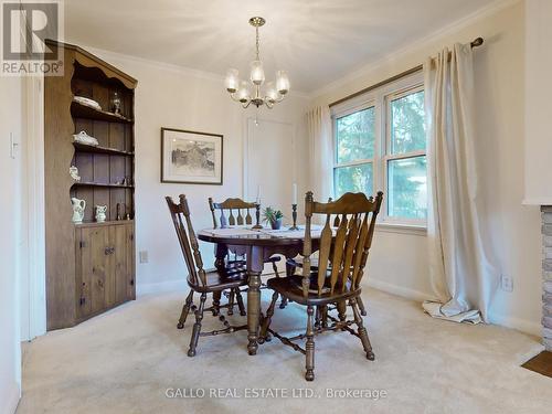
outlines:
[[[541,206],[542,215],[542,337],[552,351],[552,205]]]

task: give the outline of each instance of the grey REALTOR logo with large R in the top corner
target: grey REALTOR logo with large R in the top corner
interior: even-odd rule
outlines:
[[[63,38],[63,3],[2,1],[1,71],[3,76],[62,76],[63,54],[46,40]]]

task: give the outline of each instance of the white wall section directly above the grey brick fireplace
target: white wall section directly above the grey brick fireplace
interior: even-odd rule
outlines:
[[[552,205],[552,1],[526,1],[526,200]]]

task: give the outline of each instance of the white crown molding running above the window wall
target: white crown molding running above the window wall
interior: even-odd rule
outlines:
[[[310,93],[310,98],[316,99],[321,97],[322,95],[335,92],[337,88],[344,86],[352,81],[373,72],[374,70],[388,65],[389,63],[396,61],[397,57],[403,56],[405,54],[413,53],[417,50],[423,49],[426,45],[431,45],[435,42],[436,38],[443,38],[447,34],[453,34],[461,29],[473,24],[474,22],[480,21],[482,19],[488,18],[489,15],[493,15],[501,10],[508,9],[516,3],[519,3],[523,0],[496,0],[492,3],[489,3],[473,13],[463,17],[461,19],[456,20],[453,23],[449,23],[429,34],[426,34],[422,38],[418,38],[404,46],[396,49],[394,52],[388,53],[384,56],[376,59],[373,62],[361,65],[359,68],[353,70],[349,74],[346,74],[336,81],[329,83],[328,85],[322,86],[321,88],[315,89]]]

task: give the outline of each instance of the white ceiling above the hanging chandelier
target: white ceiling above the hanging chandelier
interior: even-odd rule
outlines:
[[[65,0],[65,38],[224,75],[248,74],[262,15],[267,79],[316,91],[493,0]]]

